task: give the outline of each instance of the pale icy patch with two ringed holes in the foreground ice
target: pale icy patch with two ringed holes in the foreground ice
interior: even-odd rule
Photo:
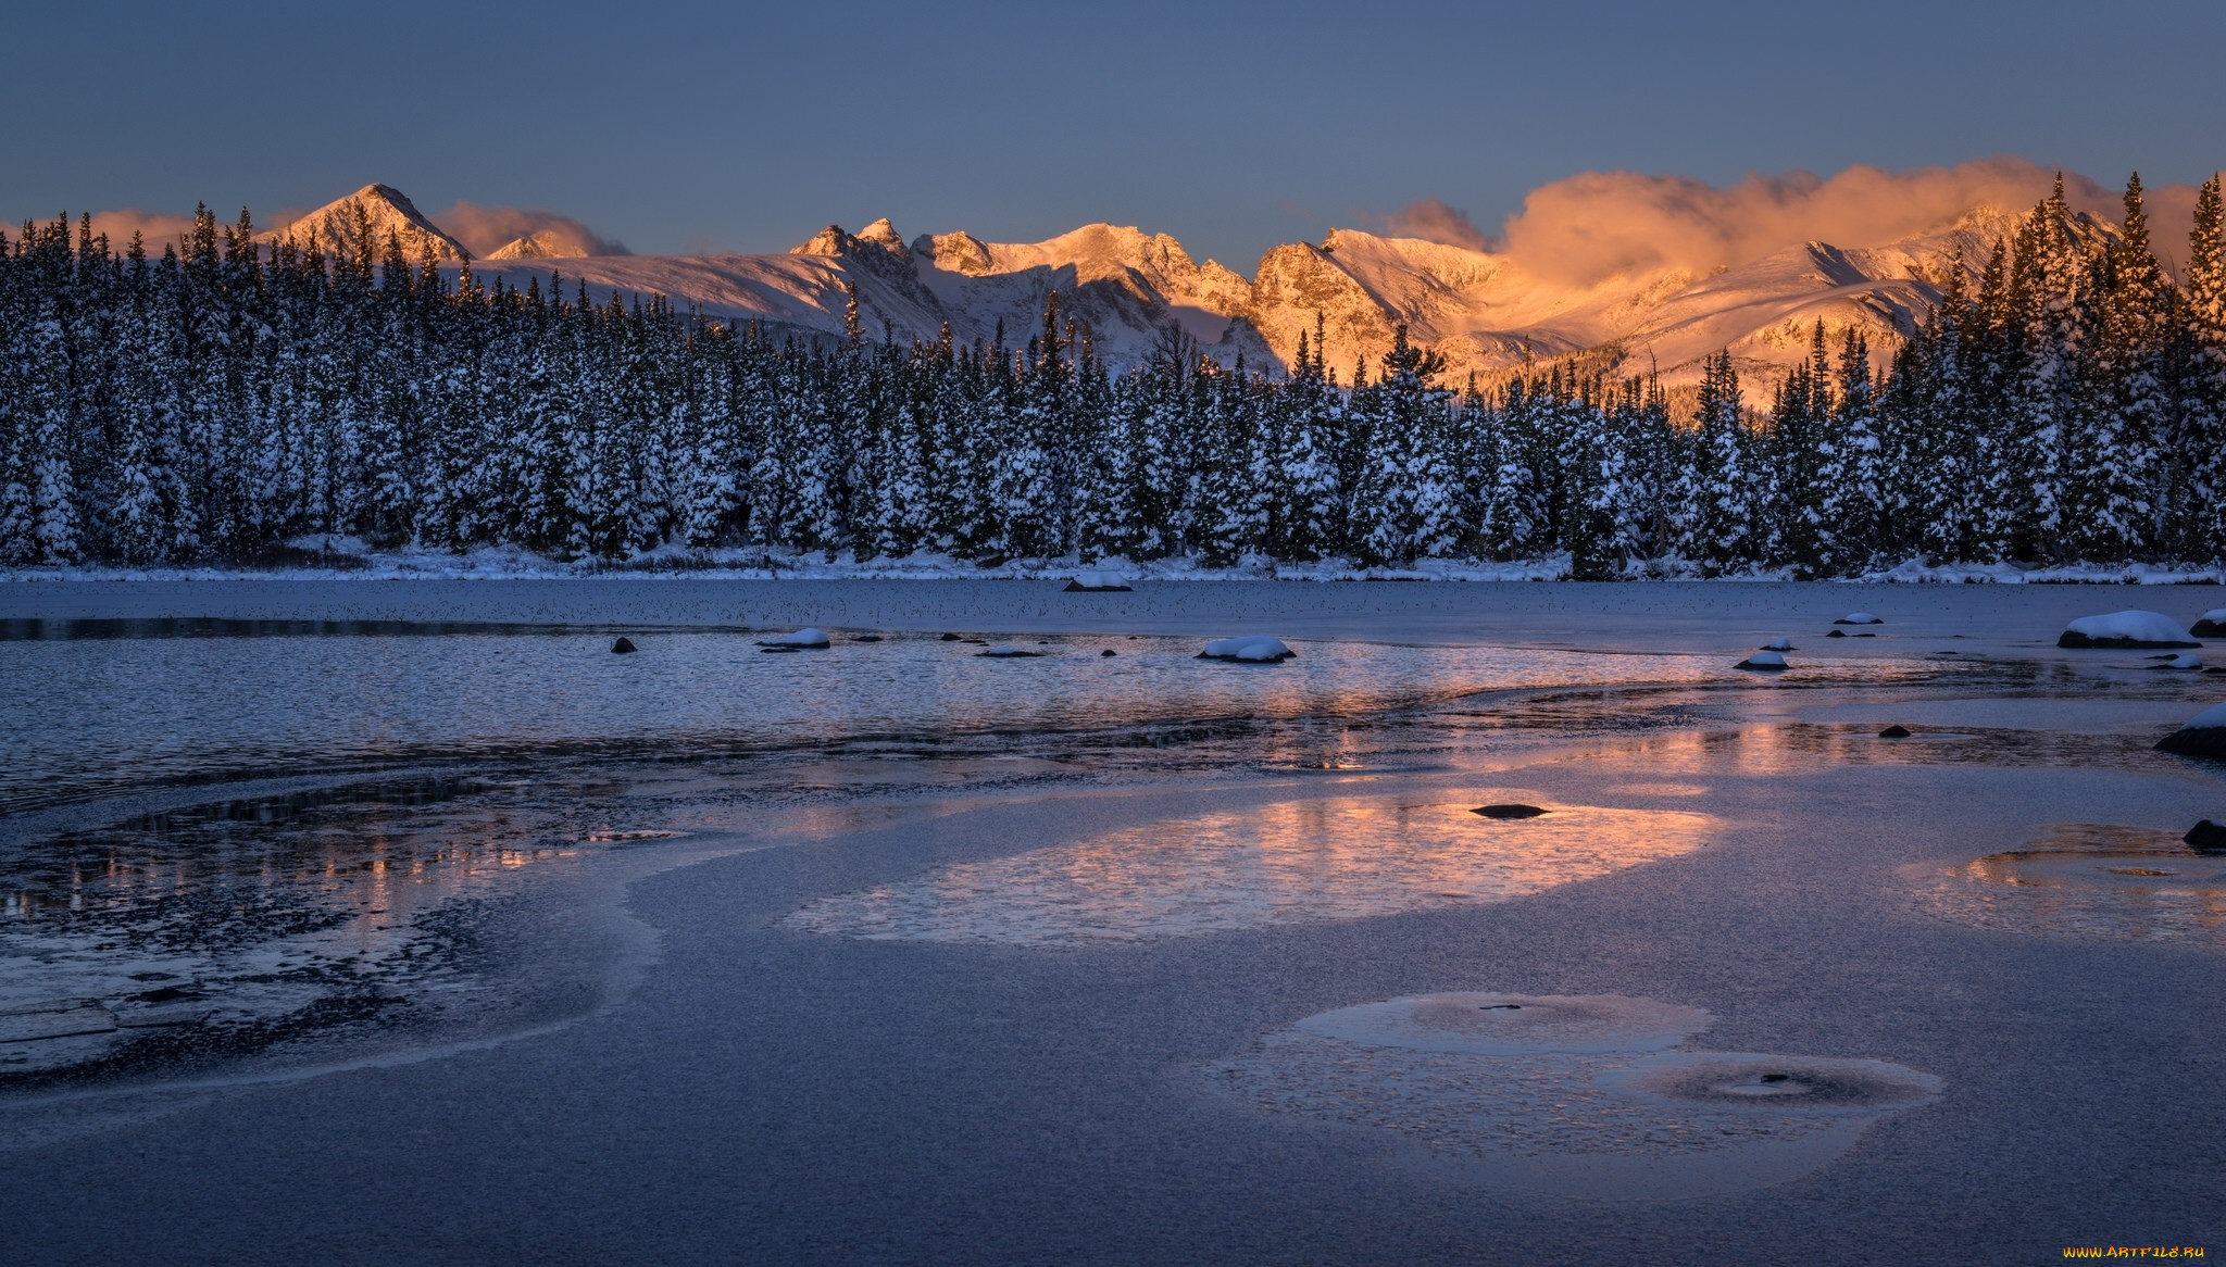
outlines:
[[[1467,1020],[1442,1015],[1454,1004]],[[1531,1011],[1554,1013],[1543,1033],[1478,1040]],[[1485,1182],[1609,1200],[1785,1182],[1941,1089],[1879,1060],[1663,1051],[1710,1020],[1625,995],[1420,995],[1300,1020],[1206,1076],[1253,1109],[1376,1127]]]

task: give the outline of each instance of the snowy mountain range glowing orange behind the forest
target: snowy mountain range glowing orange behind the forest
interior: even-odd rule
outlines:
[[[314,229],[327,245],[354,247],[358,223],[374,243],[392,232],[412,261],[432,252],[454,269],[470,258],[387,185],[365,185],[280,234],[301,240]],[[1834,338],[1845,327],[1865,332],[1877,361],[1925,318],[1959,261],[1974,281],[2017,223],[2015,212],[1977,205],[1885,245],[1810,240],[1707,274],[1636,267],[1574,283],[1511,254],[1362,229],[1273,247],[1247,278],[1218,261],[1193,261],[1166,234],[1122,225],[984,243],[964,232],[906,240],[888,220],[855,234],[828,225],[788,254],[755,256],[590,256],[577,236],[536,232],[470,267],[516,287],[534,276],[548,287],[556,272],[565,294],[585,283],[597,301],[668,296],[683,310],[804,338],[841,336],[855,285],[873,338],[933,341],[948,325],[973,343],[995,338],[1002,325],[1015,347],[1042,325],[1057,292],[1062,314],[1086,323],[1097,356],[1115,367],[1184,343],[1180,334],[1224,365],[1242,356],[1247,367],[1280,374],[1320,323],[1327,361],[1349,383],[1405,323],[1409,338],[1445,359],[1454,383],[1572,356],[1618,376],[1658,372],[1681,383],[1718,350],[1770,381],[1805,359],[1819,318]],[[2117,227],[2079,214],[2079,234],[2110,238]]]

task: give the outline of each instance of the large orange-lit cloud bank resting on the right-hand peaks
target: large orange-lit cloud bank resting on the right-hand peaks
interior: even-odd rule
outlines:
[[[1685,176],[1585,171],[1531,189],[1507,218],[1498,249],[1567,283],[1656,269],[1707,274],[1805,240],[1885,245],[1952,225],[1979,205],[2026,212],[2052,180],[2055,169],[2015,156],[1910,171],[1848,167],[1828,180],[1808,171],[1750,174],[1721,189]],[[2064,191],[2075,212],[2112,223],[2124,214],[2119,194],[2086,176],[2066,174]],[[2159,254],[2186,254],[2193,200],[2184,185],[2148,191]]]

